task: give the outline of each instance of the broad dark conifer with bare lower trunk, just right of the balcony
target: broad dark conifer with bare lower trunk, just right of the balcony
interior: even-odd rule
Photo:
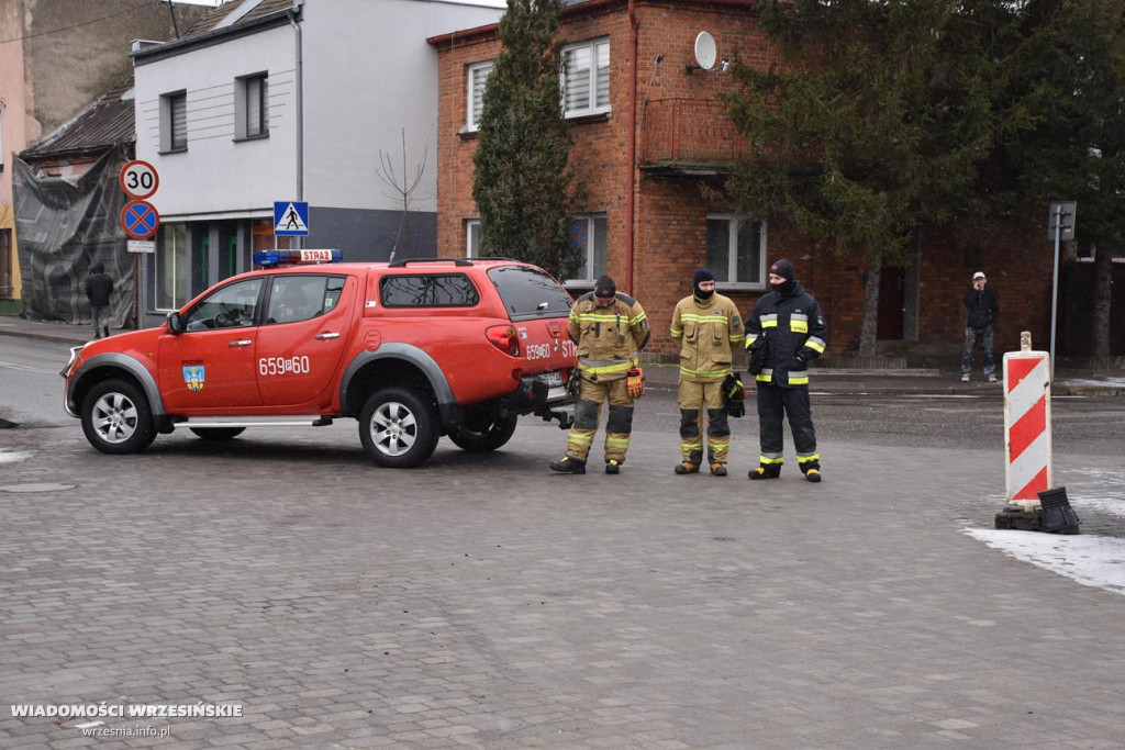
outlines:
[[[766,71],[735,64],[727,102],[753,151],[728,198],[865,263],[864,356],[875,352],[882,266],[907,264],[926,227],[957,217],[991,142],[981,58],[1010,19],[999,0],[978,3],[981,18],[958,4],[974,3],[763,0],[784,57]]]

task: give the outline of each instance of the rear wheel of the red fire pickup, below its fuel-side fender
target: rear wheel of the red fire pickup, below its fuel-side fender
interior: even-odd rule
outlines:
[[[416,390],[385,388],[367,399],[359,415],[363,450],[379,466],[416,467],[438,446],[438,419]]]

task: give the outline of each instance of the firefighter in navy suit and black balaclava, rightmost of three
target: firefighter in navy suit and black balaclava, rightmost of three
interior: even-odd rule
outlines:
[[[809,481],[820,481],[820,454],[809,405],[809,362],[825,352],[828,333],[820,305],[793,279],[793,264],[780,260],[770,268],[767,292],[746,317],[746,346],[765,336],[767,354],[755,376],[758,440],[762,455],[750,479],[775,479],[784,463],[782,418],[796,446],[796,461]]]

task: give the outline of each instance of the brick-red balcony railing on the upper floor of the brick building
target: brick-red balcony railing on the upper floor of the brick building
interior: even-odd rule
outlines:
[[[723,174],[750,147],[716,99],[654,99],[642,128],[640,166],[651,172]]]

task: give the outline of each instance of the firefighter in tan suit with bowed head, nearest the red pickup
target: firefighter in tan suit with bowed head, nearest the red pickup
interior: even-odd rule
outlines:
[[[648,318],[636,299],[618,293],[613,279],[602,277],[594,291],[579,297],[570,308],[567,331],[578,344],[580,381],[566,455],[551,461],[551,469],[586,473],[586,457],[597,432],[602,401],[609,398],[605,473],[620,473],[632,434],[634,399],[627,379],[629,370],[637,367],[640,350],[648,343],[651,333]]]

